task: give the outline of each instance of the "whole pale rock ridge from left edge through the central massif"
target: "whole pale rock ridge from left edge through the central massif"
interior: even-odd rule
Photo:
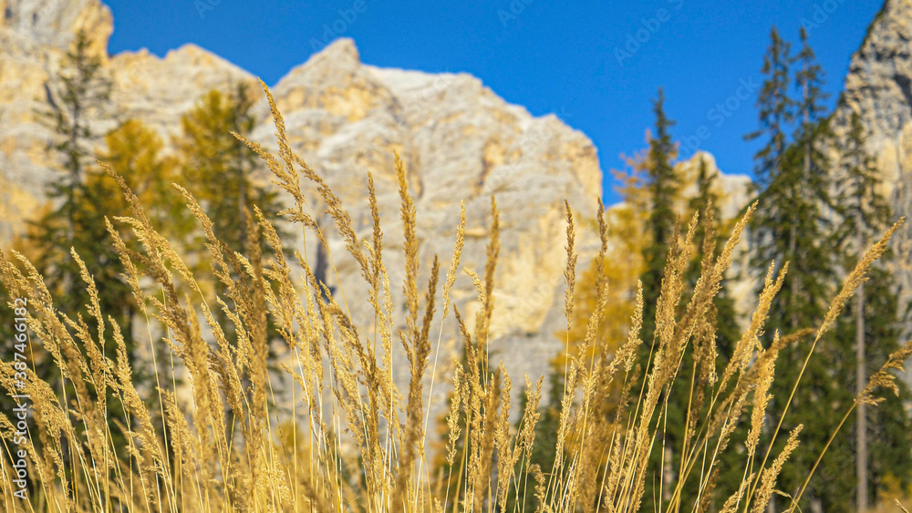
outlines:
[[[98,119],[98,128],[139,118],[168,141],[179,131],[181,114],[203,93],[254,82],[244,70],[196,46],[164,58],[146,51],[108,56],[112,19],[98,0],[0,1],[0,16],[0,241],[21,231],[29,211],[44,202],[47,182],[57,180],[56,163],[47,156],[50,132],[37,121],[36,109],[79,30],[88,35],[113,84],[116,117]],[[581,266],[596,247],[596,234],[582,228],[602,194],[592,142],[554,116],[534,118],[507,104],[475,77],[366,66],[347,39],[293,69],[273,92],[295,151],[336,190],[363,237],[370,233],[367,173],[373,173],[397,305],[404,256],[393,150],[405,162],[416,200],[422,283],[435,254],[446,271],[461,202],[467,211],[462,265],[483,271],[491,197],[496,197],[502,249],[492,361],[503,359],[519,382],[523,373],[544,374],[562,345],[554,333],[564,323],[565,200],[581,226],[576,239]],[[260,124],[250,137],[275,148],[275,128],[263,99],[255,110]],[[322,209],[316,194],[308,198],[315,199],[315,210]],[[338,277],[327,281],[345,284],[351,312],[369,333],[373,315],[358,300],[365,285],[335,231],[328,232]],[[316,241],[308,242],[308,248],[316,248]],[[471,328],[477,309],[471,280],[461,275],[452,296]],[[452,319],[442,328],[445,348],[456,340]],[[400,383],[406,367],[396,365]],[[443,401],[438,398],[437,404]]]

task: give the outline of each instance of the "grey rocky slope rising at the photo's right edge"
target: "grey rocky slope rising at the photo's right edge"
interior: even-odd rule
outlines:
[[[912,0],[886,0],[852,56],[844,103],[834,127],[845,132],[853,112],[869,132],[868,148],[883,173],[896,217],[912,213]],[[912,226],[894,236],[901,305],[912,302]],[[912,333],[912,325],[906,326]]]

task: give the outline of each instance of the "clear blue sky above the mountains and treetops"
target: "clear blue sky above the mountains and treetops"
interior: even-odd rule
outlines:
[[[164,55],[184,43],[207,48],[275,84],[310,56],[316,39],[354,38],[380,67],[464,71],[534,115],[557,114],[596,143],[606,171],[645,145],[651,98],[665,88],[676,139],[707,149],[730,173],[750,173],[756,126],[742,84],[759,84],[772,25],[797,40],[804,18],[824,67],[831,105],[849,57],[882,0],[108,0],[109,50]],[[358,11],[355,10],[358,9]],[[341,11],[341,13],[340,13]],[[349,21],[344,18],[347,17]],[[326,34],[325,26],[333,29]],[[630,39],[639,41],[630,41]],[[638,43],[638,45],[637,45]],[[618,53],[623,51],[626,53]],[[174,77],[179,80],[180,77]],[[745,100],[737,95],[747,97]],[[729,107],[725,107],[728,101]],[[722,104],[722,110],[717,107]],[[706,128],[700,130],[701,126]],[[697,138],[697,139],[695,139]],[[684,153],[691,151],[687,148]]]

